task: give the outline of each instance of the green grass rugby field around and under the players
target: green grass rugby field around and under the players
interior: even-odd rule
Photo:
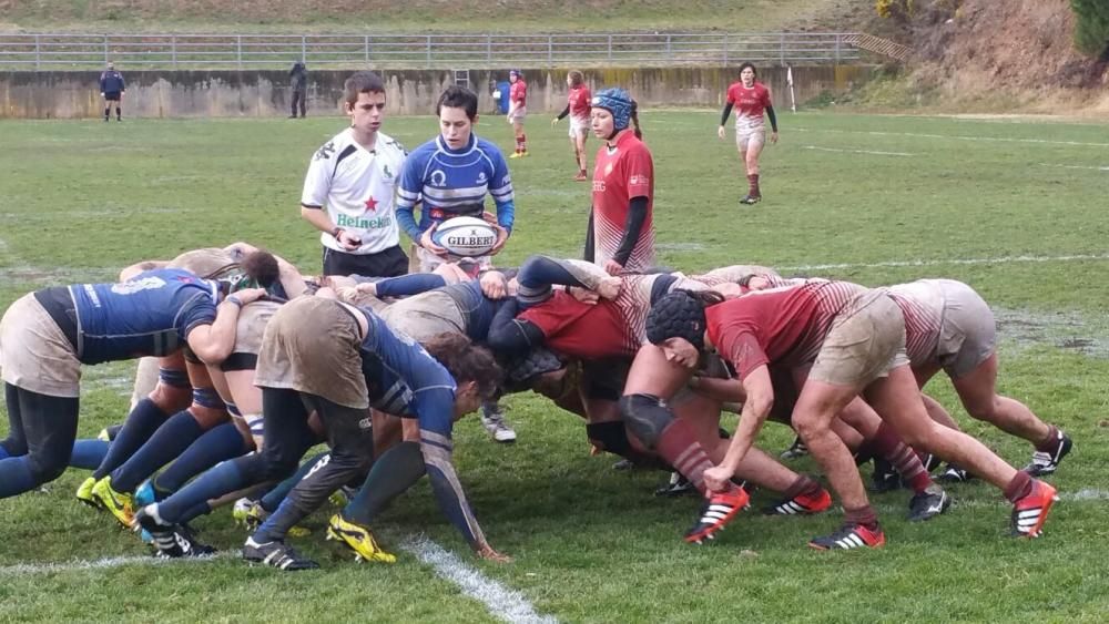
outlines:
[[[908,494],[875,495],[888,538],[879,551],[806,549],[838,512],[749,512],[715,543],[688,546],[680,536],[695,501],[653,498],[664,474],[611,470],[611,458],[588,454],[579,419],[518,396],[508,401],[515,446],[494,444],[476,418],[457,432],[476,513],[515,562],[475,560],[426,482],[385,514],[375,528],[381,541],[395,548],[425,533],[536,613],[567,622],[1105,621],[1109,125],[786,113],[782,141],[764,157],[766,198],[740,208],[739,163],[731,140],[714,136],[715,112],[642,117],[668,264],[759,263],[871,285],[950,277],[997,308],[1003,391],[1076,442],[1051,478],[1064,500],[1046,535],[1006,538],[1008,505],[971,482],[950,489],[957,504],[947,515],[919,525],[903,520]],[[318,243],[297,216],[299,188],[312,152],[342,126],[337,117],[0,122],[0,306],[37,287],[110,278],[139,259],[235,239],[318,270]],[[503,117],[478,129],[510,145]],[[533,116],[528,129],[533,155],[511,161],[518,226],[507,258],[576,256],[588,188],[570,181],[564,126]],[[413,147],[435,123],[389,119],[385,130]],[[82,433],[123,418],[130,371],[88,370]],[[968,421],[946,381],[929,391],[1010,462],[1028,460],[1022,442]],[[771,424],[763,446],[791,440]],[[318,557],[318,572],[284,575],[234,556],[102,561],[145,548],[73,499],[83,477],[71,470],[42,493],[0,501],[0,621],[494,618],[409,551],[393,566],[350,563],[323,542],[323,513],[297,543]],[[771,497],[756,494],[756,508]],[[244,539],[225,510],[199,528],[222,550]]]

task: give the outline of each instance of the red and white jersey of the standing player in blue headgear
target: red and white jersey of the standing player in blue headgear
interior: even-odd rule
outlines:
[[[623,241],[632,197],[647,197],[647,219],[624,269],[642,272],[654,266],[654,161],[650,150],[631,130],[620,132],[614,145],[597,151],[593,166],[593,262],[613,258]]]

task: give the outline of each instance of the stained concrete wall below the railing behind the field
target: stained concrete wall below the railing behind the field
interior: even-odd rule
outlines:
[[[285,71],[128,71],[124,114],[130,117],[278,116],[288,114]],[[566,70],[525,69],[528,110],[557,112],[566,104]],[[343,81],[349,70],[312,71],[308,106],[316,113],[339,111]],[[797,102],[824,90],[844,91],[864,82],[871,68],[820,65],[794,68]],[[735,68],[641,68],[586,70],[594,90],[620,85],[644,108],[719,106]],[[439,93],[451,83],[447,71],[386,71],[390,112],[431,114]],[[0,117],[81,119],[103,114],[99,72],[0,72]],[[774,92],[779,108],[788,105],[785,68],[763,68],[760,79]],[[507,71],[471,71],[481,112],[492,111],[490,85],[507,80]]]

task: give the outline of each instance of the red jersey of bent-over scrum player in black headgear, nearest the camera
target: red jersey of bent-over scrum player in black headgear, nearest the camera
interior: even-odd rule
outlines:
[[[705,309],[709,339],[740,379],[762,365],[806,365],[816,359],[836,315],[866,290],[823,279],[753,290]]]

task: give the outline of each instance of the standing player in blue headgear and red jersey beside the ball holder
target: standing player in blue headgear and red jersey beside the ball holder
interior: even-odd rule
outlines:
[[[604,145],[593,165],[586,259],[609,275],[642,273],[654,266],[654,161],[627,91],[606,89],[591,104],[593,134]]]

